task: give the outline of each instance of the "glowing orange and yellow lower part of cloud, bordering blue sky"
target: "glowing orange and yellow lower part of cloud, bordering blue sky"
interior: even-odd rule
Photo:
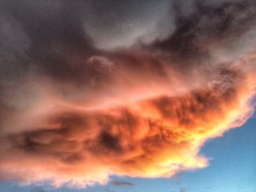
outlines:
[[[0,177],[84,186],[207,166],[199,153],[206,139],[252,115],[255,54],[189,74],[147,58],[90,58],[97,75],[77,92],[39,81],[42,96],[4,122]]]

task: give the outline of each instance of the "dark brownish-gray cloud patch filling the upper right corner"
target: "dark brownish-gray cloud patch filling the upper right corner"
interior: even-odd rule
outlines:
[[[188,65],[195,59],[200,64],[210,58],[212,49],[228,47],[255,26],[256,3],[173,1],[171,12],[176,30],[151,46],[167,51],[179,63]]]

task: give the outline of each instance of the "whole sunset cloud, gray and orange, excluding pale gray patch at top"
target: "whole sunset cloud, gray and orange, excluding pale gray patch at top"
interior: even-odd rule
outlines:
[[[231,45],[255,4],[199,2],[173,7],[165,40],[99,50],[83,1],[1,1],[0,178],[84,186],[207,166],[203,143],[253,112],[256,53]]]

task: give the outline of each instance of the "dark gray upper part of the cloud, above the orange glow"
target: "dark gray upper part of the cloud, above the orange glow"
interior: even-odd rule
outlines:
[[[98,50],[95,44],[108,45],[115,42],[119,34],[125,39],[143,23],[165,12],[156,22],[170,26],[167,33],[154,23],[135,36],[143,37],[156,28],[159,32],[165,31],[165,39],[161,34],[151,35],[152,40],[158,38],[149,46],[153,48],[151,52],[167,51],[180,65],[192,63],[192,58],[204,63],[212,47],[227,47],[255,23],[255,1],[217,2],[1,1],[1,39],[5,45],[1,46],[1,60],[5,63],[1,66],[1,78],[17,79],[31,70],[62,82],[85,84],[93,81],[90,75],[101,78],[102,74],[95,74],[98,69],[89,69],[86,60],[92,55],[108,58],[112,53]],[[135,39],[127,41],[130,45]],[[126,59],[124,55],[112,55]],[[126,55],[133,63],[141,63],[133,53]]]

